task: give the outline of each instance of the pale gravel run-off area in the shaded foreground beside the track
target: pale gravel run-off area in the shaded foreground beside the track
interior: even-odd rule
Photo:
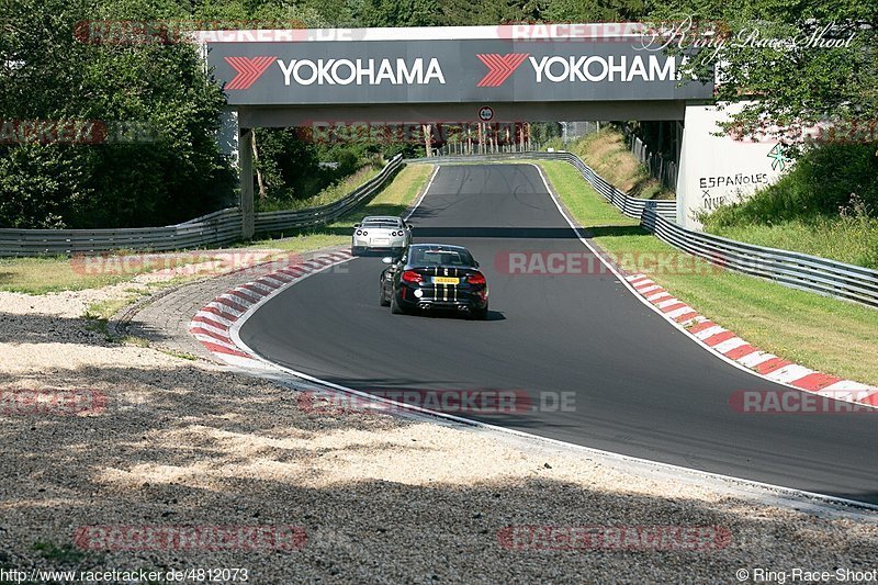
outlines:
[[[733,583],[741,569],[878,569],[868,515],[799,511],[421,419],[301,408],[290,387],[109,340],[82,318],[150,279],[0,293],[4,571]],[[91,406],[27,408],[27,395]]]

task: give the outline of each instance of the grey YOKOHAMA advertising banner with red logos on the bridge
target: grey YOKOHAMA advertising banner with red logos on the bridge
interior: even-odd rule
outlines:
[[[405,31],[404,29],[401,31]],[[693,100],[680,57],[635,43],[509,40],[207,43],[230,105]]]

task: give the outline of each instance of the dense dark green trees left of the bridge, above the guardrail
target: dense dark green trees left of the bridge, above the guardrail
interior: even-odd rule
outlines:
[[[170,1],[16,0],[10,7],[0,34],[0,117],[98,121],[110,134],[92,145],[0,146],[0,224],[161,225],[228,201],[233,173],[214,135],[224,98],[196,48],[83,43],[77,29],[89,19],[181,16]],[[137,135],[116,136],[120,126]]]

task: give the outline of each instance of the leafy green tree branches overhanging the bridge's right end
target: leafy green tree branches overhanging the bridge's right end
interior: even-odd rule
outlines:
[[[878,115],[878,3],[675,0],[653,2],[650,19],[691,19],[684,45],[706,42],[701,33],[708,31],[723,38],[702,48],[693,71],[709,76],[718,66],[719,101],[753,100],[734,116],[745,133],[766,123],[797,128]],[[775,136],[785,139],[780,132]]]

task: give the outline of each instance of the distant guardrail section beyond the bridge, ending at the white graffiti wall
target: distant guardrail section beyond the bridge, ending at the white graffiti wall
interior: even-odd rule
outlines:
[[[558,153],[518,153],[509,155],[470,155],[460,157],[429,157],[429,158],[410,158],[406,162],[463,162],[466,160],[509,160],[509,159],[549,159],[549,160],[563,160],[576,167],[579,175],[595,188],[595,191],[604,195],[604,198],[619,207],[619,210],[635,220],[640,220],[643,210],[654,210],[658,215],[666,217],[669,221],[675,221],[677,217],[677,202],[673,200],[652,200],[652,199],[638,199],[632,198],[628,193],[619,191],[595,170],[583,162],[579,157],[573,153],[558,151]]]

